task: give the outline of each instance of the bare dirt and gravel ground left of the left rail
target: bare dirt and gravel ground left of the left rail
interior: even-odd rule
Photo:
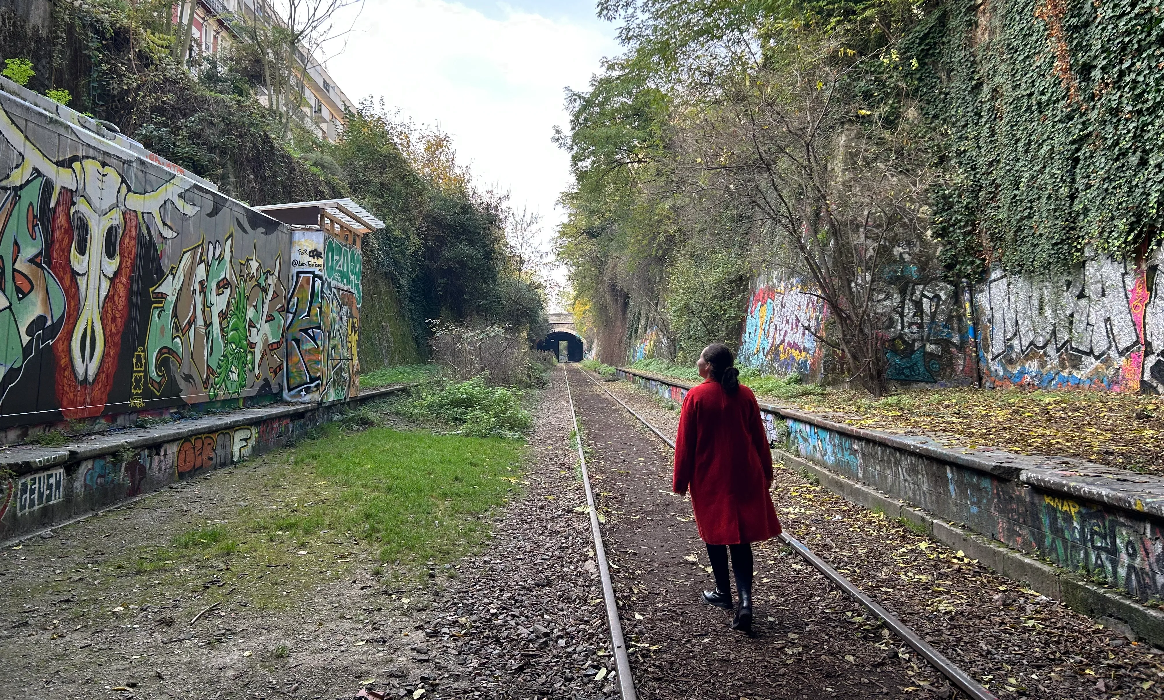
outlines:
[[[537,409],[527,483],[514,485],[524,493],[495,515],[484,551],[431,573],[381,571],[377,547],[350,533],[333,533],[304,579],[290,565],[214,558],[135,568],[139,553],[240,508],[298,505],[310,483],[291,475],[290,451],[5,550],[0,697],[347,700],[364,681],[392,698],[610,694],[560,373],[554,381]],[[246,577],[275,577],[285,595],[249,598]]]

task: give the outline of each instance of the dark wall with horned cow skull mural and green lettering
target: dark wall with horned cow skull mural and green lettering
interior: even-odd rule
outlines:
[[[278,396],[289,234],[0,91],[0,422]]]

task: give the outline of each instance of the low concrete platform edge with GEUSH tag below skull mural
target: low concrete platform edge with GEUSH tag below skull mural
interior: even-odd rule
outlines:
[[[329,404],[278,404],[111,431],[62,447],[9,447],[0,452],[0,540],[276,450],[403,388]]]

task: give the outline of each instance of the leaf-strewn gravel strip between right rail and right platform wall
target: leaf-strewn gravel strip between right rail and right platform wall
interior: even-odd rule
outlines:
[[[674,434],[676,411],[627,382],[603,386]],[[773,497],[789,532],[1000,698],[1161,697],[1159,650],[1130,643],[901,523],[844,501],[794,469],[776,469]],[[911,660],[906,667],[914,671]],[[922,685],[925,678],[915,680]],[[943,684],[938,686],[934,695],[941,697]]]

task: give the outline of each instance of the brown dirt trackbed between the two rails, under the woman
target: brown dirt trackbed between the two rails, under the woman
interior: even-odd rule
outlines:
[[[643,698],[914,697],[882,628],[780,546],[755,549],[754,636],[729,629],[731,613],[701,600],[714,584],[690,505],[670,493],[669,450],[573,374]],[[936,681],[928,666],[914,673]]]

